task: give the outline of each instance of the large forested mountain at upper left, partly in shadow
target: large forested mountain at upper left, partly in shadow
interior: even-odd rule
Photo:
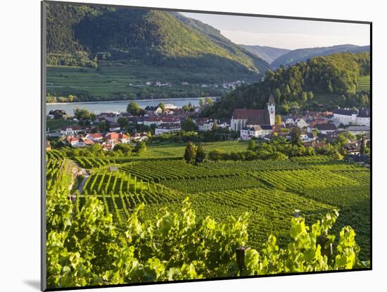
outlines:
[[[46,38],[49,65],[137,62],[203,70],[220,81],[258,79],[269,68],[213,27],[165,11],[50,3]]]

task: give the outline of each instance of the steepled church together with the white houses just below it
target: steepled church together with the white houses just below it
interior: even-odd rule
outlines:
[[[241,140],[265,137],[272,132],[275,123],[274,96],[270,94],[265,110],[236,108],[231,117],[231,129],[241,131]]]

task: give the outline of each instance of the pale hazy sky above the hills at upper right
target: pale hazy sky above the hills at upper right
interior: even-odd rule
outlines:
[[[224,37],[236,44],[284,49],[336,44],[369,45],[369,25],[363,24],[203,13],[182,14],[217,28]]]

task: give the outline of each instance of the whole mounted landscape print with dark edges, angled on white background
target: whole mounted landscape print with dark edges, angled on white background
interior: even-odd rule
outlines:
[[[371,28],[43,1],[42,290],[371,269]]]

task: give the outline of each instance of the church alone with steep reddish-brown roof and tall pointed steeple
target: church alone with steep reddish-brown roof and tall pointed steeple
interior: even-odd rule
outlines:
[[[275,102],[272,94],[267,102],[265,110],[251,110],[246,108],[236,108],[231,117],[231,130],[241,131],[246,127],[262,125],[274,125]]]

